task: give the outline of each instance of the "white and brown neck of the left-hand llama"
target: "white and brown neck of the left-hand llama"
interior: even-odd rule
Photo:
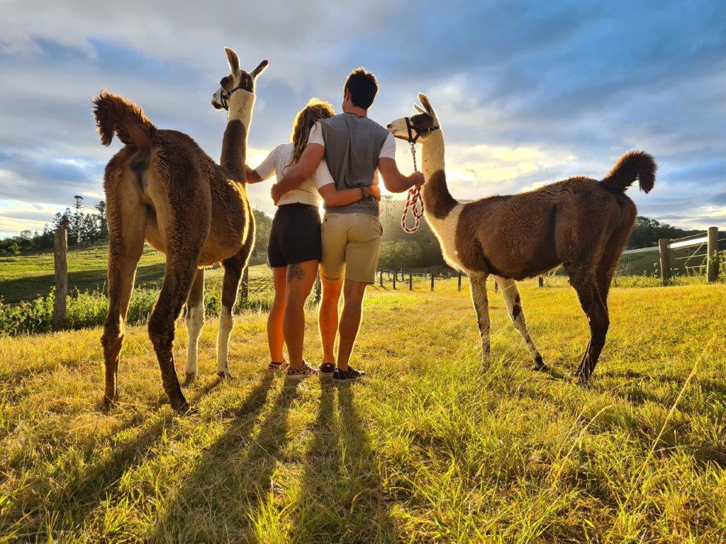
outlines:
[[[222,154],[219,164],[227,168],[237,181],[244,183],[245,155],[247,154],[247,135],[252,122],[255,95],[244,89],[237,89],[229,96],[227,128],[222,138]]]

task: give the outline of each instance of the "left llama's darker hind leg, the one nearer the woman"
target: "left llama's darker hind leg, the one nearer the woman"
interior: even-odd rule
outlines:
[[[192,242],[189,242],[192,245]],[[189,289],[197,274],[199,250],[189,246],[184,251],[179,248],[166,257],[166,273],[159,298],[149,318],[149,337],[154,345],[161,369],[161,382],[169,397],[172,408],[185,412],[189,408],[187,399],[181,393],[179,379],[174,368],[174,323],[179,317],[181,306],[189,296]]]

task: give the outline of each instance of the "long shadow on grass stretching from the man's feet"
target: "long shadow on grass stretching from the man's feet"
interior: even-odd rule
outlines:
[[[355,391],[356,386],[321,381],[292,529],[294,542],[399,542],[370,440],[354,405]]]

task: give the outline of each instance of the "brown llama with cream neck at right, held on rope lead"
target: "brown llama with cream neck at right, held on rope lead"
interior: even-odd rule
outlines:
[[[396,138],[423,144],[425,216],[439,239],[444,259],[466,271],[481,335],[481,356],[489,362],[489,305],[486,279],[499,283],[509,316],[529,349],[533,370],[545,368],[527,331],[516,281],[563,265],[590,322],[590,342],[575,376],[587,383],[608,332],[608,290],[635,223],[635,203],[625,195],[637,178],[653,189],[656,162],[650,154],[624,154],[601,181],[568,178],[522,194],[458,202],[446,186],[444,133],[424,94],[417,114],[388,125]]]

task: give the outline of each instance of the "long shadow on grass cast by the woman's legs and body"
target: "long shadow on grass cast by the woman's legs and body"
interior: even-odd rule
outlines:
[[[276,491],[274,471],[289,440],[287,413],[299,396],[298,382],[286,379],[261,418],[268,393],[274,390],[273,379],[274,374],[266,373],[244,403],[234,409],[234,420],[205,448],[203,458],[171,499],[150,540],[250,540],[253,520],[269,493]]]

